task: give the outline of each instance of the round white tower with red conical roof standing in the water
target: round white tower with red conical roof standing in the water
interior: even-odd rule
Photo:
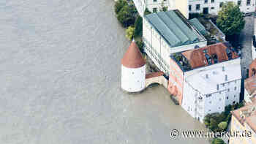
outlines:
[[[146,61],[133,40],[121,59],[121,88],[127,92],[139,92],[145,88]]]

